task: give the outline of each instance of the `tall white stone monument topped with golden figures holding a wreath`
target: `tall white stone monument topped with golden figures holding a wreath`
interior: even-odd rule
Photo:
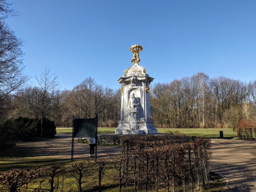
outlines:
[[[131,62],[133,65],[124,70],[124,75],[118,79],[121,83],[121,116],[117,134],[157,134],[151,119],[149,85],[154,78],[149,77],[146,69],[139,65],[139,52],[142,46],[133,45]]]

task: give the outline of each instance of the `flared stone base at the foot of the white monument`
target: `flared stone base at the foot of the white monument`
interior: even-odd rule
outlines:
[[[157,134],[153,121],[119,121],[116,134]]]

